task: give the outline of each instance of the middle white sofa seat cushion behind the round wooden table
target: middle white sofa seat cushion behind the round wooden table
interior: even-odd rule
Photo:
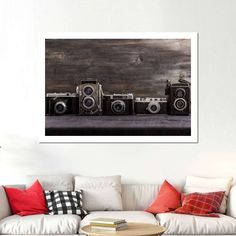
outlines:
[[[157,224],[155,216],[145,211],[93,211],[84,217],[80,227],[88,225],[90,220],[98,217],[125,219],[127,222]]]

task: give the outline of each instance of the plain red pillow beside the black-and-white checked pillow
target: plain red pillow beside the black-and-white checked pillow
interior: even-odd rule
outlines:
[[[48,209],[39,181],[26,190],[4,187],[13,214],[20,216],[46,214]]]

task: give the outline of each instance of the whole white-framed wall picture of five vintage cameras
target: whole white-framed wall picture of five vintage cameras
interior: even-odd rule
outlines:
[[[47,33],[41,142],[197,142],[197,33]]]

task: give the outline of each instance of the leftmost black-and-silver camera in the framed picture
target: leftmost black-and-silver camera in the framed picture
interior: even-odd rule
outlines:
[[[76,114],[78,96],[76,93],[47,93],[46,114],[65,115]]]

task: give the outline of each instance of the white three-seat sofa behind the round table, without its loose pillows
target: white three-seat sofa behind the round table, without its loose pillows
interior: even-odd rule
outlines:
[[[73,176],[43,177],[44,189],[74,190]],[[23,185],[14,187],[25,188]],[[11,215],[3,187],[0,187],[0,234],[18,235],[76,235],[80,227],[96,217],[125,218],[127,222],[160,224],[167,228],[165,235],[236,235],[236,186],[228,199],[227,214],[219,218],[143,211],[158,193],[158,184],[122,184],[121,211],[91,211],[83,220],[77,215]]]

